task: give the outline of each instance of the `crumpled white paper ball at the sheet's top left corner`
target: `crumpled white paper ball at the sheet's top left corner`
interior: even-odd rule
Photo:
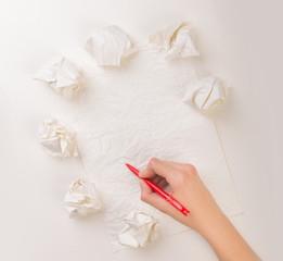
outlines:
[[[137,51],[128,35],[116,25],[93,32],[83,48],[99,66],[120,67],[121,60]]]

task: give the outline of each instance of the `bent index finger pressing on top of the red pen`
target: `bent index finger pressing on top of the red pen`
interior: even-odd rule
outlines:
[[[163,176],[168,183],[170,183],[173,178],[175,173],[176,169],[172,165],[157,158],[152,158],[146,169],[141,172],[139,176],[141,178],[151,178],[157,174],[159,176]]]

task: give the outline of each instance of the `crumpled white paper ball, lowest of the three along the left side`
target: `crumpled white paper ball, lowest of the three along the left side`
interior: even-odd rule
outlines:
[[[80,177],[70,184],[64,203],[70,219],[99,212],[103,207],[95,185],[86,177]]]

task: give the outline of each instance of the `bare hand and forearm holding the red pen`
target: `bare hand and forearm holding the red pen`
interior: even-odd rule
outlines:
[[[219,260],[260,260],[217,206],[193,165],[152,158],[140,177],[141,199],[198,232]],[[170,196],[189,209],[190,215],[184,216],[142,178],[151,178],[162,188],[169,185]]]

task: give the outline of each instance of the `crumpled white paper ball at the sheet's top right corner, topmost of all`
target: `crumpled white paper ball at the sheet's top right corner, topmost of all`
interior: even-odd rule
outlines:
[[[179,22],[150,36],[150,42],[160,45],[168,60],[198,57],[194,45],[194,30],[191,22]]]

